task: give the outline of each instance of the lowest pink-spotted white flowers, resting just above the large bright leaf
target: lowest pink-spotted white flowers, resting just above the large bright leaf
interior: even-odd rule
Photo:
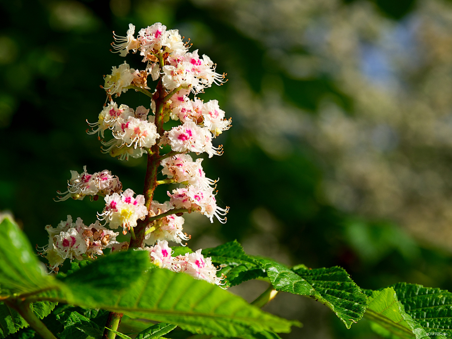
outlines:
[[[195,279],[206,280],[212,284],[223,285],[221,281],[224,275],[217,277],[218,269],[212,265],[212,258],[201,254],[201,250],[185,255],[171,256],[172,250],[168,246],[168,241],[158,241],[156,245],[145,247],[143,250],[150,252],[151,261],[161,267],[174,272],[184,272]]]

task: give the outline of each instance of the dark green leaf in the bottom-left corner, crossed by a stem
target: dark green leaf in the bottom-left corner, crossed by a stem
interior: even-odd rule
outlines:
[[[56,303],[54,302],[37,301],[31,304],[30,308],[39,319],[42,319],[49,315],[55,306]],[[28,323],[16,310],[0,302],[0,338],[5,338],[7,335],[27,326]]]

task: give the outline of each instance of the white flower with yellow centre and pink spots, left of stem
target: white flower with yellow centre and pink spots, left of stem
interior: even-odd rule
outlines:
[[[122,233],[126,235],[126,228],[130,230],[131,227],[137,226],[137,220],[143,220],[148,211],[144,206],[144,196],[138,194],[133,198],[135,192],[127,188],[124,193],[119,195],[113,193],[105,197],[105,208],[102,213],[99,213],[99,219],[108,222],[110,228],[116,229],[122,226]]]

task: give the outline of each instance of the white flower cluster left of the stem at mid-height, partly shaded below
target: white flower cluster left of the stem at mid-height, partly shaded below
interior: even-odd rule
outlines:
[[[160,135],[154,122],[148,121],[149,109],[139,106],[134,111],[127,105],[120,105],[111,101],[99,113],[98,122],[90,123],[93,128],[89,134],[98,133],[104,137],[104,132],[112,131],[113,139],[102,141],[107,148],[104,152],[109,152],[112,156],[118,156],[121,160],[128,159],[129,156],[138,158],[146,152],[144,148],[155,145],[155,141]],[[153,120],[153,116],[149,119]]]

